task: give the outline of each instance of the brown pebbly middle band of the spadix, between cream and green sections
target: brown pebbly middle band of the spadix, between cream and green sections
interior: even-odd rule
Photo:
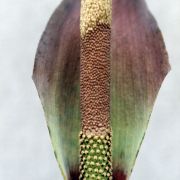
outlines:
[[[110,31],[101,24],[81,39],[82,130],[100,135],[110,128]]]

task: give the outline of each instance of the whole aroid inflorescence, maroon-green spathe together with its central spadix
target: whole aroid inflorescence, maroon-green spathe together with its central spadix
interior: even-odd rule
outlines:
[[[64,179],[130,177],[169,69],[145,0],[63,0],[33,80]]]

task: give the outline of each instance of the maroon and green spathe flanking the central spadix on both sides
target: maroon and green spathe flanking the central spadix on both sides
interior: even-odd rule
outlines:
[[[113,178],[130,176],[169,64],[144,0],[113,0],[111,122]],[[79,0],[64,0],[40,40],[33,79],[65,179],[79,177]]]

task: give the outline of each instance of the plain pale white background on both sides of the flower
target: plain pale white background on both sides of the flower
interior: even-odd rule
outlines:
[[[59,0],[0,0],[0,180],[60,180],[40,100],[34,56]],[[131,180],[180,179],[180,1],[148,0],[172,71],[155,104]]]

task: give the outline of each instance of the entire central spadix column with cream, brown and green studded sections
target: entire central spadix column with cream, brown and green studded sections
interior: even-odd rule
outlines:
[[[81,1],[79,179],[112,179],[111,9],[111,0]]]

